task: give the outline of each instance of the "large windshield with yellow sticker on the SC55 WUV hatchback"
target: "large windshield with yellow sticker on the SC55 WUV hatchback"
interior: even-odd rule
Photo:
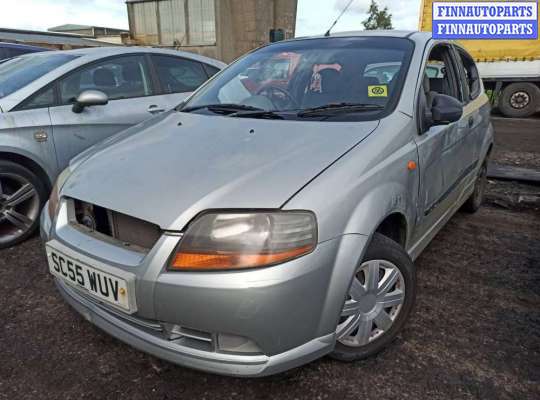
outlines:
[[[272,112],[285,119],[380,117],[397,104],[413,46],[408,39],[382,37],[273,44],[226,68],[181,111],[230,116],[249,112],[249,117]],[[231,111],[226,113],[225,107]]]

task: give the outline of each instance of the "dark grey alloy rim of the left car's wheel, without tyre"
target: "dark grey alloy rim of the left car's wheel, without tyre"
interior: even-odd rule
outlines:
[[[33,229],[39,208],[38,191],[29,180],[14,173],[0,174],[0,245]]]

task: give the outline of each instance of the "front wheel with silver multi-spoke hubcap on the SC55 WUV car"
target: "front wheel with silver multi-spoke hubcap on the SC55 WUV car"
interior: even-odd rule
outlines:
[[[405,324],[415,297],[411,258],[398,243],[375,233],[351,282],[330,356],[355,361],[383,350]]]

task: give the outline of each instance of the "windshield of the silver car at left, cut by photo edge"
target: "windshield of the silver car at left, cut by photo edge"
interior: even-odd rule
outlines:
[[[0,63],[0,99],[75,58],[61,53],[36,53]]]

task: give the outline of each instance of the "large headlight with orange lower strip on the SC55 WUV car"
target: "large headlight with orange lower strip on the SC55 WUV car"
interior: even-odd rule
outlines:
[[[317,222],[308,211],[207,213],[191,223],[172,270],[264,267],[311,252]]]

